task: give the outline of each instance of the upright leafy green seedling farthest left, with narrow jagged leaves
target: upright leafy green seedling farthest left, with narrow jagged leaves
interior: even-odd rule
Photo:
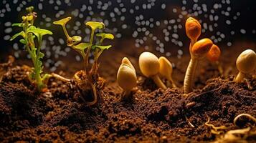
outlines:
[[[37,84],[37,89],[39,92],[45,87],[44,80],[49,78],[49,74],[42,74],[42,61],[44,54],[41,52],[42,38],[44,35],[51,35],[52,32],[46,29],[40,29],[34,26],[34,20],[37,18],[37,13],[34,12],[34,7],[30,6],[27,9],[28,14],[22,16],[22,23],[12,24],[12,26],[19,26],[22,31],[11,37],[11,41],[16,39],[18,36],[22,36],[23,39],[19,41],[25,45],[26,50],[31,56],[34,68],[32,74],[30,74],[29,79]]]

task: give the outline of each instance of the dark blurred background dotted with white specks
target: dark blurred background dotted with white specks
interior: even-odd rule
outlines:
[[[22,61],[29,59],[19,40],[9,41],[21,30],[11,24],[21,21],[28,6],[34,6],[37,12],[35,25],[54,33],[44,37],[42,47],[44,66],[49,71],[56,71],[59,66],[67,68],[63,64],[67,56],[72,56],[69,62],[81,61],[81,57],[66,46],[61,27],[52,24],[67,16],[72,16],[67,24],[70,35],[82,36],[84,41],[90,38],[85,21],[103,21],[104,31],[115,35],[115,40],[111,41],[113,48],[105,52],[111,56],[110,50],[127,52],[131,56],[131,51],[147,50],[181,59],[188,54],[189,39],[184,23],[189,16],[199,19],[202,24],[200,38],[209,37],[222,50],[232,52],[240,46],[255,49],[249,47],[256,42],[255,0],[1,0],[1,61],[9,54],[24,59]]]

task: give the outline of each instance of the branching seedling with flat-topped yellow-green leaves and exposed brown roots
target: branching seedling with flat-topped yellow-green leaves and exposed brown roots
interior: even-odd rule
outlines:
[[[97,29],[104,29],[105,24],[103,24],[103,22],[88,21],[85,23],[85,25],[89,26],[91,29],[90,41],[81,42],[82,41],[81,36],[70,36],[67,33],[66,24],[68,21],[70,21],[70,19],[71,17],[67,17],[59,21],[54,21],[53,24],[62,26],[65,36],[67,37],[67,46],[70,46],[72,49],[75,49],[75,51],[77,51],[84,60],[84,65],[85,65],[84,71],[78,71],[77,73],[75,73],[74,77],[82,93],[88,93],[88,90],[89,90],[88,87],[90,87],[90,89],[93,89],[93,101],[86,102],[89,105],[93,105],[98,102],[97,89],[96,89],[98,77],[99,77],[98,76],[98,67],[99,67],[98,59],[105,49],[109,49],[111,47],[111,45],[103,46],[103,41],[104,39],[114,39],[114,36],[113,34],[105,34],[105,33],[96,34],[97,37],[100,37],[100,41],[94,44],[93,41],[94,41],[95,31]],[[90,55],[90,52],[92,51],[94,53],[94,63],[93,63],[93,66],[90,66],[89,55]],[[87,100],[85,99],[85,101]]]

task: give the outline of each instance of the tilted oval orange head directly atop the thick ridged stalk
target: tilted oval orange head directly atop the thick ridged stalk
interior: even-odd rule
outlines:
[[[191,54],[194,56],[204,56],[211,49],[212,45],[212,40],[208,38],[196,41],[191,48]]]

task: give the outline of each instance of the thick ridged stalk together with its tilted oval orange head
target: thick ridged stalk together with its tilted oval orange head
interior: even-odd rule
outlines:
[[[186,75],[184,79],[184,93],[187,94],[192,91],[192,83],[194,82],[194,72],[196,71],[196,65],[199,60],[203,59],[207,55],[207,52],[212,47],[212,40],[201,39],[197,41],[191,48],[191,59],[189,66],[186,69]]]

